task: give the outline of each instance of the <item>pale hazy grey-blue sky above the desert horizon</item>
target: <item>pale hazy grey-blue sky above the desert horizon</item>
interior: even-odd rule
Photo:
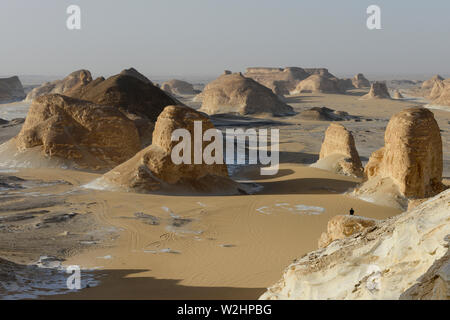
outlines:
[[[81,7],[80,31],[66,29],[70,4]],[[366,28],[370,4],[382,30]],[[449,74],[449,13],[448,0],[1,0],[0,74]]]

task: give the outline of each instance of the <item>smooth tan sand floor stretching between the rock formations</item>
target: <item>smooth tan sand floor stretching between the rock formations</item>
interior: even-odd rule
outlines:
[[[384,144],[389,118],[417,102],[360,101],[358,97],[362,94],[363,90],[355,90],[350,95],[306,94],[288,97],[287,103],[297,112],[312,106],[327,106],[360,116],[361,121],[342,124],[353,131],[361,159],[366,162]],[[198,107],[190,101],[187,103]],[[444,177],[448,178],[448,112],[433,112],[442,129]],[[97,271],[103,276],[100,285],[55,297],[256,299],[280,278],[293,259],[317,248],[317,240],[332,216],[345,214],[350,207],[358,215],[376,219],[401,212],[345,195],[358,179],[309,167],[318,159],[329,122],[306,121],[298,115],[273,120],[284,123],[274,126],[280,129],[282,164],[278,175],[261,177],[259,169],[251,167],[240,173],[243,180],[263,187],[255,195],[188,197],[88,190],[82,186],[97,179],[99,174],[20,169],[17,163],[3,167],[18,170],[8,174],[24,179],[70,182],[72,185],[49,187],[45,192],[60,194],[78,212],[90,212],[99,225],[118,230],[119,237],[111,245],[76,250],[63,262],[83,268],[101,267]],[[8,134],[14,135],[11,131],[3,137]],[[59,245],[58,241],[52,243]],[[12,255],[0,248],[0,256],[25,261],[20,251]]]

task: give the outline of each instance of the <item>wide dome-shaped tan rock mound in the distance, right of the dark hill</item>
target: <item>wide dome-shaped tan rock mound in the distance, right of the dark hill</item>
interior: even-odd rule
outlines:
[[[269,88],[241,73],[221,75],[208,83],[196,100],[202,101],[200,110],[207,114],[293,114],[292,107],[282,102]]]

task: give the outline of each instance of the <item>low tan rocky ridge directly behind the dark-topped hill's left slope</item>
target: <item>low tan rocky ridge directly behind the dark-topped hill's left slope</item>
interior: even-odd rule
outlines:
[[[79,90],[92,81],[91,73],[88,70],[74,71],[62,80],[46,82],[42,86],[34,88],[28,93],[26,100],[33,99],[51,93],[68,95],[72,90]]]

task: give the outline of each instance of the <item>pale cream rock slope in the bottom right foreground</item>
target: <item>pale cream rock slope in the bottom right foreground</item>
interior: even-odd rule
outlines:
[[[447,190],[295,260],[260,299],[399,299],[448,252],[449,218]],[[437,291],[448,288],[436,282]]]

